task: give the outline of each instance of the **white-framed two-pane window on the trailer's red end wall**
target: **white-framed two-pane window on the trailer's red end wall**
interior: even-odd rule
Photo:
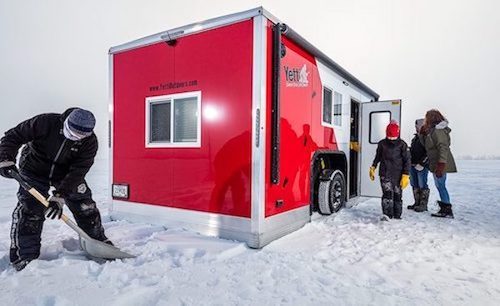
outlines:
[[[146,147],[200,147],[201,93],[146,98]]]

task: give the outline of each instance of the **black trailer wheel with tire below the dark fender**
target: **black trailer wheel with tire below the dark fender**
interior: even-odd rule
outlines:
[[[346,184],[340,170],[324,170],[318,186],[318,208],[322,215],[331,215],[345,204]]]

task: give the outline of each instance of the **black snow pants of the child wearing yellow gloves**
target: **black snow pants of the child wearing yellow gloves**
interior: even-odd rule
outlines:
[[[380,177],[382,186],[382,213],[389,218],[401,218],[403,212],[403,191],[399,181]]]

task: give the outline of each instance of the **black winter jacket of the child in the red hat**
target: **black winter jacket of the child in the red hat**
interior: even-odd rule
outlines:
[[[379,141],[373,166],[380,163],[379,176],[399,184],[401,176],[410,172],[410,152],[404,140],[387,138]]]

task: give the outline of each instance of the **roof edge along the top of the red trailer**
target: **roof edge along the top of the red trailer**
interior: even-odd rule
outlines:
[[[133,40],[131,42],[121,44],[115,47],[112,47],[109,49],[110,54],[116,54],[116,53],[121,53],[125,52],[127,50],[132,50],[148,45],[152,45],[161,41],[169,41],[173,39],[177,39],[182,36],[187,36],[190,34],[198,33],[198,32],[203,32],[207,31],[210,29],[214,29],[217,27],[222,27],[225,25],[233,24],[236,22],[240,22],[242,20],[246,19],[251,19],[255,16],[262,15],[266,17],[267,19],[271,20],[273,23],[281,23],[281,21],[276,18],[273,14],[269,13],[266,11],[263,7],[257,7],[248,11],[243,11],[231,15],[226,15],[226,16],[221,16],[217,18],[212,18],[208,19],[205,21],[201,22],[196,22],[196,23],[191,23],[186,26],[174,28],[168,31],[163,31],[159,32],[153,35],[149,35],[140,39]],[[299,44],[301,47],[303,47],[306,51],[311,53],[313,56],[315,56],[319,61],[321,61],[324,65],[338,73],[341,77],[346,79],[350,85],[354,85],[363,92],[367,93],[375,101],[378,101],[379,99],[379,94],[377,94],[374,90],[372,90],[370,87],[365,85],[363,82],[358,80],[354,75],[349,73],[347,70],[342,68],[339,64],[337,64],[335,61],[333,61],[331,58],[329,58],[326,54],[321,52],[319,49],[314,47],[311,43],[309,43],[306,39],[304,39],[302,36],[300,36],[297,32],[292,30],[290,27],[288,27],[285,24],[286,31],[284,32],[284,35],[287,36],[289,39],[293,40],[297,44]]]

